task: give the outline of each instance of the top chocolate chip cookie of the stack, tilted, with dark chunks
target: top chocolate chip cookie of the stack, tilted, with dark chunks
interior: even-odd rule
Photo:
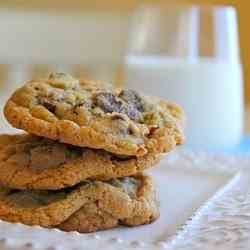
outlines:
[[[168,152],[184,139],[177,105],[63,73],[27,82],[4,114],[29,133],[120,155]]]

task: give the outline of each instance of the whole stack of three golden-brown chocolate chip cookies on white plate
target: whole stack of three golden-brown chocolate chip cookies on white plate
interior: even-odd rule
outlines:
[[[154,221],[145,169],[183,142],[181,109],[63,73],[15,91],[0,135],[0,219],[92,232]]]

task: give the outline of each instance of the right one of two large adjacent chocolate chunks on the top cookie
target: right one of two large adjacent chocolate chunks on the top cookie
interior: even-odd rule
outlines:
[[[128,105],[135,106],[135,108],[139,112],[145,111],[143,100],[136,91],[131,89],[122,90],[119,94],[119,97],[122,98],[124,101],[126,101]]]

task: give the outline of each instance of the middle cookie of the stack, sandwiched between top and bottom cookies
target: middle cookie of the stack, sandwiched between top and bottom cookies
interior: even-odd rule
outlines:
[[[86,180],[131,176],[154,166],[160,155],[114,155],[27,135],[0,135],[0,185],[56,190]]]

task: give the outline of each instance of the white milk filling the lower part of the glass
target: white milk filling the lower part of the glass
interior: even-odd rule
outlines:
[[[243,133],[243,80],[240,63],[129,56],[125,84],[180,104],[186,113],[187,145],[236,146]]]

